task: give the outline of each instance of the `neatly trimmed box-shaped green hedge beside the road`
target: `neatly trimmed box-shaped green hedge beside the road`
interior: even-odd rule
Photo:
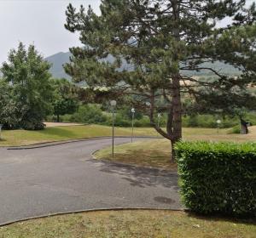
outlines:
[[[256,216],[256,144],[180,142],[175,149],[187,208]]]

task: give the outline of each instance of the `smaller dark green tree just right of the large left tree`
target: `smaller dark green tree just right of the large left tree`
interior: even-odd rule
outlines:
[[[65,114],[73,114],[78,110],[79,101],[77,87],[67,81],[67,79],[52,80],[55,89],[54,94],[54,114],[57,116],[57,122],[60,122],[60,116]]]

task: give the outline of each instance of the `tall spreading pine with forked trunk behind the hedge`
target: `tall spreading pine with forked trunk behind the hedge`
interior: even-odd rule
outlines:
[[[220,105],[227,99],[230,109],[232,99],[243,105],[247,85],[255,81],[255,3],[246,8],[245,0],[102,0],[100,15],[71,4],[66,14],[67,30],[79,32],[84,44],[71,48],[67,73],[92,90],[108,88],[108,98],[136,96],[132,104],[149,111],[152,126],[172,148],[182,137],[182,96],[195,111],[201,101],[206,110],[225,111]],[[229,26],[219,24],[225,18]],[[216,71],[213,63],[219,61],[241,73]],[[193,77],[204,71],[214,77]],[[157,126],[158,111],[168,115],[166,130]]]

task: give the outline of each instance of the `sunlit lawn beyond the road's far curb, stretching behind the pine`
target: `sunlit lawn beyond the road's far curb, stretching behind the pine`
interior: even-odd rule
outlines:
[[[244,141],[247,139],[256,139],[256,129],[247,136],[243,135],[229,135],[227,130],[223,129],[217,134],[216,129],[212,128],[183,128],[183,136],[185,139],[212,139],[212,140],[227,140],[233,139],[237,141]],[[116,127],[116,135],[130,136],[131,128]],[[110,136],[112,134],[111,127],[99,125],[85,125],[85,126],[70,126],[70,127],[47,127],[42,131],[25,131],[25,130],[3,130],[0,146],[9,145],[27,145],[37,144],[50,141],[61,141],[67,139],[82,139],[95,136]],[[153,128],[139,127],[135,128],[134,134],[137,136],[159,136]]]

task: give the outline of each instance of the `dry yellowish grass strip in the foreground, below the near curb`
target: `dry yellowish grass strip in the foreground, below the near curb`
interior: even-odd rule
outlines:
[[[186,212],[84,212],[39,218],[0,229],[1,238],[253,238],[253,221],[201,218]]]

